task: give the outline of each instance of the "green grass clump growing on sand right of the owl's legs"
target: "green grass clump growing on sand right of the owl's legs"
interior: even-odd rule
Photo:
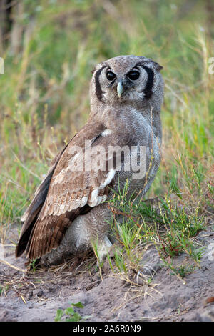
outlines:
[[[163,265],[177,275],[184,276],[199,266],[204,251],[195,242],[195,236],[205,229],[205,217],[199,207],[178,207],[167,194],[156,205],[143,199],[127,200],[126,187],[115,193],[109,203],[115,237],[120,243],[113,256],[119,272],[127,275],[130,268],[141,270],[143,253],[151,244],[158,250]],[[122,217],[120,220],[118,215]],[[189,265],[173,265],[173,258],[183,254]],[[109,256],[108,261],[113,270]]]

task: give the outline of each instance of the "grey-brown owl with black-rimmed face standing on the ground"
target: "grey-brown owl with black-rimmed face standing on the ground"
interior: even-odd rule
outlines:
[[[108,200],[127,184],[126,197],[146,194],[161,161],[160,66],[144,56],[116,56],[98,64],[85,126],[51,162],[21,218],[16,257],[54,265],[97,243],[109,247]]]

